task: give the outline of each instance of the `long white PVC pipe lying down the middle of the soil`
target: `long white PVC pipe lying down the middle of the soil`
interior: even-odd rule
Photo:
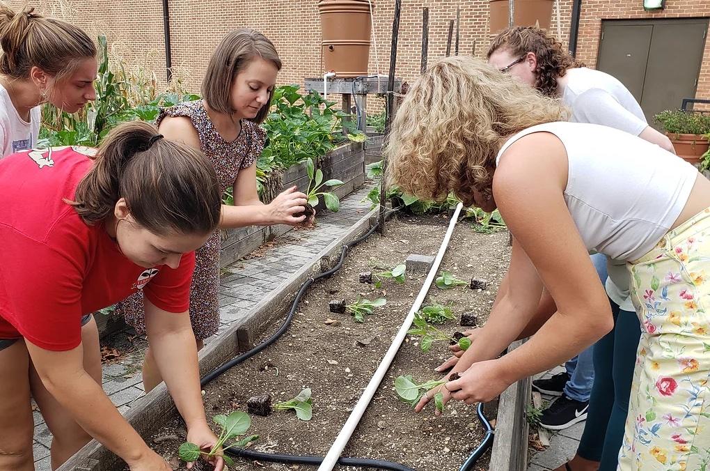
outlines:
[[[328,450],[328,454],[325,455],[323,462],[321,463],[320,467],[318,467],[318,471],[332,471],[333,467],[338,462],[338,458],[340,458],[340,455],[343,453],[345,445],[348,444],[348,441],[350,440],[350,437],[353,431],[355,430],[355,427],[360,422],[362,415],[365,413],[365,409],[370,404],[370,401],[372,401],[372,398],[375,396],[377,388],[380,386],[382,379],[385,377],[387,370],[390,368],[390,365],[392,364],[395,355],[400,349],[400,345],[402,345],[404,337],[406,337],[407,335],[407,331],[410,329],[414,321],[415,313],[417,313],[417,310],[419,310],[422,303],[424,302],[424,298],[426,298],[427,293],[429,292],[429,288],[432,285],[435,276],[437,275],[439,265],[441,264],[441,261],[444,258],[444,253],[446,252],[446,249],[449,246],[451,234],[454,232],[454,227],[456,226],[456,222],[459,219],[459,212],[461,212],[461,207],[463,207],[463,203],[459,202],[459,205],[457,205],[456,211],[454,212],[451,221],[449,221],[449,229],[447,229],[447,232],[444,235],[444,240],[442,241],[441,247],[439,247],[439,253],[437,253],[436,258],[434,259],[432,269],[429,271],[429,274],[427,275],[427,279],[424,281],[424,285],[422,286],[421,291],[417,295],[417,298],[414,300],[414,304],[409,310],[409,314],[405,318],[402,327],[400,327],[399,332],[397,332],[397,335],[395,335],[395,338],[392,341],[392,345],[390,345],[389,350],[387,350],[387,353],[383,357],[380,366],[377,367],[377,370],[375,374],[373,374],[372,379],[370,379],[370,382],[366,386],[365,391],[363,391],[362,396],[360,396],[360,399],[357,401],[357,404],[355,404],[355,407],[350,413],[348,420],[345,422],[345,425],[343,426],[340,433],[338,433],[338,436],[335,438],[335,441],[333,445],[331,445],[330,450]]]

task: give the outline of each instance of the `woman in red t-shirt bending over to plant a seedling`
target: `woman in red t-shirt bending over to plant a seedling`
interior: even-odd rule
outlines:
[[[170,470],[104,394],[82,315],[142,290],[146,330],[188,439],[216,443],[204,416],[187,313],[194,250],[219,223],[212,165],[155,127],[122,124],[98,151],[31,150],[0,161],[0,470],[33,470],[30,397],[58,467],[90,438],[131,470]],[[215,463],[222,469],[222,458]]]

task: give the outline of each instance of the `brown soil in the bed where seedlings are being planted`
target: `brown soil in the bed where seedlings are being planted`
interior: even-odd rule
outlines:
[[[425,274],[407,273],[405,283],[388,279],[378,289],[359,283],[359,274],[391,269],[403,263],[409,254],[435,255],[447,223],[445,215],[400,216],[388,222],[384,236],[373,234],[355,247],[337,274],[310,288],[293,324],[280,340],[205,387],[207,415],[246,411],[246,401],[252,396],[270,394],[273,403],[287,401],[303,388],[310,387],[312,420],[299,421],[293,411],[252,416],[248,434],[258,434],[261,438],[251,448],[267,453],[325,455],[425,279]],[[469,222],[459,222],[439,270],[450,271],[463,280],[484,278],[488,287],[471,290],[469,286],[458,286],[440,290],[434,286],[425,305],[450,303],[457,317],[464,312],[471,313],[477,317],[478,324],[483,325],[509,259],[508,232],[480,234],[471,229]],[[348,313],[329,312],[329,301],[344,298],[351,303],[358,295],[369,300],[386,298],[387,304],[376,308],[372,315],[366,315],[364,323],[356,323]],[[281,322],[281,319],[275,320],[262,339]],[[452,333],[464,330],[458,319],[440,328]],[[409,404],[398,399],[394,390],[395,378],[402,374],[412,374],[422,382],[439,379],[440,375],[433,369],[448,357],[447,352],[447,342],[437,342],[430,352],[423,353],[417,339],[408,336],[343,456],[390,460],[419,471],[458,469],[484,436],[476,406],[452,401],[440,417],[434,416],[433,408],[416,414]],[[181,436],[175,440],[170,435]],[[184,436],[184,426],[178,418],[173,418],[156,431],[148,443],[175,469],[182,470],[184,463],[178,467],[175,455]],[[476,469],[486,470],[488,459],[484,456],[479,460]],[[209,465],[197,467],[200,468],[211,469]],[[238,460],[236,469],[315,467]]]

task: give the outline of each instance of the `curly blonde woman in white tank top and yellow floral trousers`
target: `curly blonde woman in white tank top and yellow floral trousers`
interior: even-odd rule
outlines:
[[[626,261],[643,325],[621,470],[697,469],[710,459],[710,181],[672,153],[567,112],[474,58],[415,82],[386,149],[390,181],[422,198],[496,207],[516,244],[508,288],[454,365],[444,400],[489,401],[589,347],[613,325],[589,251]],[[574,267],[574,269],[570,269]],[[545,288],[557,310],[534,319]],[[496,359],[513,340],[537,332]]]

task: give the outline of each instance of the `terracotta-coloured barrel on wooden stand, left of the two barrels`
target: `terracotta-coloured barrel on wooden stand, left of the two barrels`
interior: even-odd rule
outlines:
[[[375,2],[372,1],[373,9]],[[372,22],[367,0],[318,2],[322,30],[323,72],[337,77],[368,75]]]

